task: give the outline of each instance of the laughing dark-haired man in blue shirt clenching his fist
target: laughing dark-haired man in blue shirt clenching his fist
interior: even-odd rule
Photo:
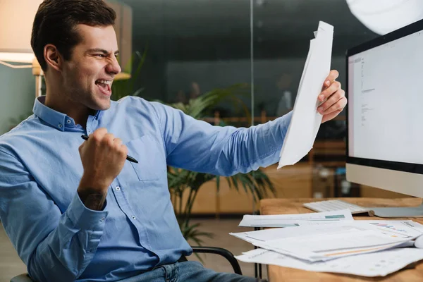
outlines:
[[[192,250],[173,212],[166,165],[228,176],[274,164],[290,114],[221,128],[140,98],[111,102],[121,71],[114,19],[102,0],[39,6],[31,44],[47,94],[0,137],[6,233],[35,281],[255,281],[178,263]],[[331,72],[319,98],[327,98],[324,121],[346,104],[337,76]],[[139,163],[126,161],[128,153]]]

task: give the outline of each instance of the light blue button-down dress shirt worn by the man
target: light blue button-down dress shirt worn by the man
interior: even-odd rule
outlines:
[[[166,166],[231,176],[278,161],[290,114],[251,128],[212,126],[137,97],[111,102],[86,128],[35,101],[34,114],[0,137],[0,219],[36,281],[119,281],[190,255]],[[107,128],[125,161],[103,211],[78,197],[81,135]]]

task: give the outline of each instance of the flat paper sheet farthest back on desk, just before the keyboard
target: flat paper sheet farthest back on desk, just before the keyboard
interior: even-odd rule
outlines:
[[[277,214],[269,216],[253,216],[246,214],[238,226],[244,227],[293,227],[300,221],[331,222],[354,220],[349,209],[331,212],[314,212],[309,214]]]

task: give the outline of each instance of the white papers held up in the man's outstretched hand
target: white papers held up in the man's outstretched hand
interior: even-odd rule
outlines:
[[[309,52],[295,98],[293,116],[286,133],[278,168],[292,165],[312,149],[321,123],[317,97],[331,67],[333,26],[319,22],[316,38],[310,41]]]

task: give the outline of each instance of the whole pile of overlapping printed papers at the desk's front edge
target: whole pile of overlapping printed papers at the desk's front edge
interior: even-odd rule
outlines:
[[[422,249],[407,247],[400,249],[400,252],[393,251],[398,250],[393,247],[410,246],[410,240],[422,235],[422,228],[421,224],[410,220],[344,220],[231,235],[263,248],[236,257],[242,262],[276,264],[310,271],[384,276],[423,259]],[[393,257],[392,263],[381,264],[383,267],[376,269],[368,267],[374,261],[368,264],[364,260],[372,257],[375,261],[381,261],[389,256]],[[347,264],[348,267],[345,266]]]

